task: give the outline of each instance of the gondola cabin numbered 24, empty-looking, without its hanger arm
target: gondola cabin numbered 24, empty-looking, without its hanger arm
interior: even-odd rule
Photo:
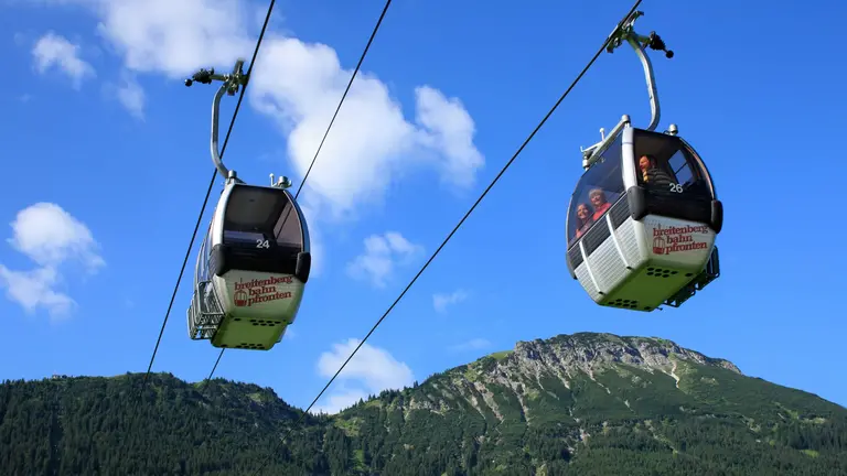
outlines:
[[[197,257],[191,338],[271,349],[294,322],[310,268],[309,229],[291,194],[228,180]]]

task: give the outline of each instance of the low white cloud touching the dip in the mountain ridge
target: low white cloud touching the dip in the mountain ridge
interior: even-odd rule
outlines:
[[[319,375],[324,378],[335,375],[360,342],[351,338],[346,343],[333,345],[331,351],[321,354],[318,360]],[[387,350],[365,343],[339,375],[339,380],[340,388],[325,397],[323,404],[315,405],[313,412],[337,413],[368,394],[410,387],[415,377],[406,364],[395,359]]]

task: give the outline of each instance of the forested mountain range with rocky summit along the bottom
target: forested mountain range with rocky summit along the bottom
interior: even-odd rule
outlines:
[[[142,378],[0,385],[0,474],[847,475],[847,409],[661,338],[521,342],[332,416]]]

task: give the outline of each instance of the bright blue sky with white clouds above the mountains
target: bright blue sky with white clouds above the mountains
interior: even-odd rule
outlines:
[[[277,2],[226,152],[242,177],[265,183],[274,172],[299,184],[382,6]],[[630,6],[395,2],[302,195],[319,255],[298,320],[269,353],[227,351],[216,375],[309,404]],[[0,221],[10,225],[0,229],[0,378],[146,370],[212,173],[214,89],[182,78],[249,58],[265,8],[0,2],[0,51],[14,72],[0,97]],[[653,55],[660,127],[678,125],[725,204],[721,278],[682,309],[641,314],[594,305],[569,277],[564,227],[579,148],[622,113],[636,126],[650,116],[635,55],[603,54],[321,408],[582,331],[669,338],[847,404],[847,229],[826,213],[847,173],[829,144],[847,106],[835,60],[845,7],[640,9],[640,30],[676,52]],[[224,100],[223,118],[234,105]],[[806,234],[812,224],[823,232]],[[392,240],[399,251],[380,255]],[[217,356],[186,334],[194,259],[153,366],[187,380]],[[437,310],[437,294],[458,299]]]

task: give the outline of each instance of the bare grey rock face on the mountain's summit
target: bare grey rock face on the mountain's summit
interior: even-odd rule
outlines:
[[[644,377],[629,375],[641,370],[646,372],[642,375],[652,376],[651,381],[665,381],[672,391],[682,391],[680,378],[693,368],[686,364],[719,367],[741,375],[728,360],[707,357],[667,339],[562,334],[544,340],[518,342],[514,350],[495,353],[448,370],[427,382],[425,396],[412,397],[401,405],[406,414],[412,410],[443,413],[467,405],[501,422],[506,419],[506,407],[519,408],[519,419],[532,424],[534,414],[538,414],[534,403],[542,392],[545,398],[568,407],[565,401],[572,398],[572,386],[588,380],[620,405],[629,408],[629,401],[618,394],[620,389],[610,388],[596,376],[611,371],[644,385]]]

